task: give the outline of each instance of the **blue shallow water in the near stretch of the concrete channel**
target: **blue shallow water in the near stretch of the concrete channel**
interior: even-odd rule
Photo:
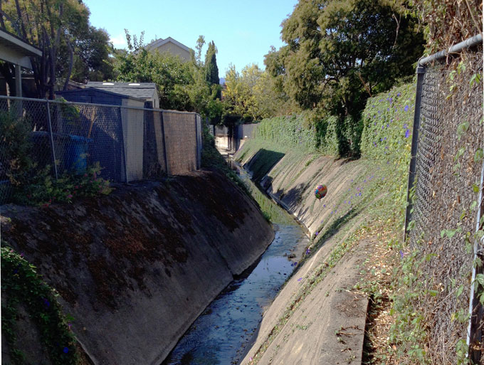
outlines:
[[[256,267],[211,302],[162,365],[238,364],[265,308],[295,269],[306,245],[307,236],[297,224],[275,226],[275,238]]]

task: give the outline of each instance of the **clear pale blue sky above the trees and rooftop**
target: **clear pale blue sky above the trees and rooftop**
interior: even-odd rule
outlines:
[[[83,0],[90,9],[90,22],[105,28],[116,47],[126,46],[125,31],[144,42],[172,37],[195,49],[199,35],[214,41],[219,76],[228,65],[239,72],[256,63],[264,68],[270,46],[279,48],[280,23],[293,12],[298,0]],[[125,5],[129,4],[129,5]],[[205,54],[206,46],[203,50]]]

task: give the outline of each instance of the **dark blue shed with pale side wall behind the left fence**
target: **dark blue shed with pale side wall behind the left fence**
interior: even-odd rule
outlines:
[[[142,179],[144,112],[137,108],[144,107],[144,100],[96,88],[59,91],[56,92],[56,96],[63,97],[69,102],[112,105],[112,107],[79,105],[80,114],[93,121],[90,134],[97,133],[101,136],[96,139],[96,145],[89,147],[90,161],[99,161],[101,166],[109,166],[107,169],[113,171],[107,171],[108,175],[115,176],[115,179],[123,177],[122,180],[126,181]],[[109,155],[107,151],[116,151],[119,155],[116,166],[102,163]]]

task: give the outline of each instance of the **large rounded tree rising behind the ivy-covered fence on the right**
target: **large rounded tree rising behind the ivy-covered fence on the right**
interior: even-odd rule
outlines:
[[[349,121],[359,121],[367,97],[413,75],[423,52],[414,19],[389,4],[300,0],[282,23],[286,45],[265,57],[276,86],[303,110],[337,116],[343,135]],[[341,142],[344,154],[347,141]]]

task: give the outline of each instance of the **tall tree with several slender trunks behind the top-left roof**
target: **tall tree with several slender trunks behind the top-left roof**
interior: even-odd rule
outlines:
[[[73,73],[76,42],[93,31],[89,28],[89,10],[78,0],[2,1],[0,26],[43,51],[33,57],[32,68],[38,97],[53,98],[56,85],[67,87]],[[103,45],[107,46],[107,45]],[[7,80],[11,68],[1,72]],[[10,75],[11,76],[11,75]]]

